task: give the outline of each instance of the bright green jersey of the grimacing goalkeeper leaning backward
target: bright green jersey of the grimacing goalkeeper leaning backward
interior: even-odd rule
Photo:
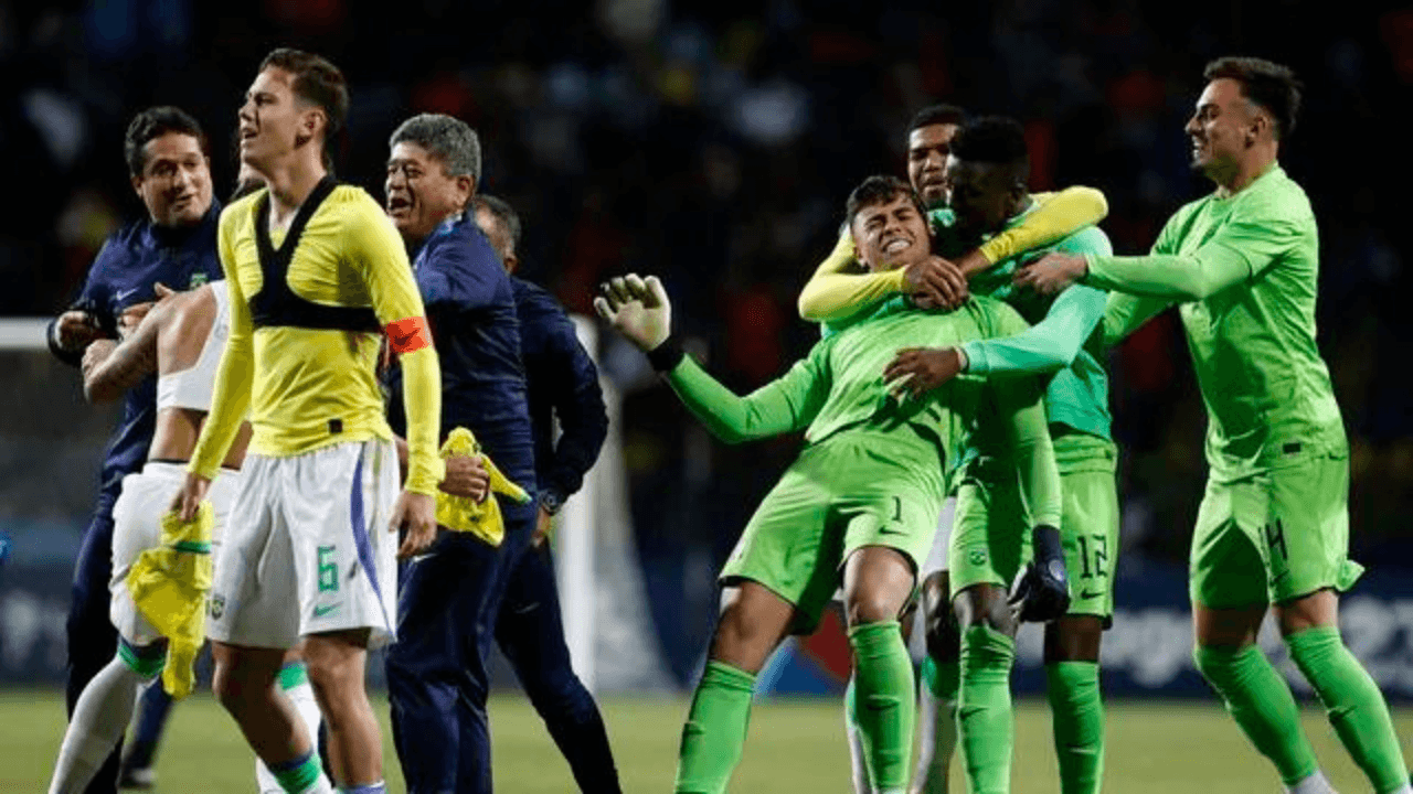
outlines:
[[[690,356],[667,377],[688,410],[726,442],[798,429],[805,431],[811,445],[852,429],[907,432],[930,441],[935,454],[906,463],[933,470],[955,461],[952,455],[972,441],[1006,451],[1016,463],[1033,521],[1058,526],[1060,478],[1034,383],[995,387],[961,376],[923,398],[899,401],[883,381],[883,369],[900,348],[945,348],[1010,336],[1026,328],[1012,308],[989,298],[972,298],[954,312],[916,311],[904,301],[890,301],[829,333],[790,372],[745,397],[718,383]],[[918,446],[880,448],[877,454],[914,455],[906,452],[910,449]],[[849,478],[849,472],[838,475],[841,480]]]

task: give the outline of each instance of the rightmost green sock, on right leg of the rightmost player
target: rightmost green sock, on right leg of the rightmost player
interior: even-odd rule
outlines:
[[[1330,715],[1340,742],[1354,756],[1379,794],[1397,791],[1409,781],[1389,706],[1368,671],[1354,658],[1340,630],[1321,626],[1286,637],[1296,667],[1304,674]]]

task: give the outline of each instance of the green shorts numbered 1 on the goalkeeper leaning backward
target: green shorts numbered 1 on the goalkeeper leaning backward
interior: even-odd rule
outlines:
[[[721,582],[764,585],[796,606],[791,630],[810,633],[855,550],[896,548],[916,576],[944,496],[931,442],[907,427],[844,431],[800,452],[750,517]]]

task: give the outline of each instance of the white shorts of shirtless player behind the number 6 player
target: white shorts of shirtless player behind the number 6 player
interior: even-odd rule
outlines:
[[[140,473],[123,478],[123,490],[113,504],[113,578],[107,582],[113,598],[107,615],[117,633],[138,647],[157,641],[161,634],[133,603],[133,593],[127,591],[127,572],[138,555],[162,543],[162,516],[185,480],[185,463],[148,462]],[[222,534],[239,487],[240,472],[222,470],[208,492],[216,519],[211,533],[213,559],[219,557]]]

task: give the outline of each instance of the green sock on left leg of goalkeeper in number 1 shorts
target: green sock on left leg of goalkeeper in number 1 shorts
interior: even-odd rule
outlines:
[[[692,695],[677,750],[677,794],[721,794],[740,762],[756,677],[708,661]]]

